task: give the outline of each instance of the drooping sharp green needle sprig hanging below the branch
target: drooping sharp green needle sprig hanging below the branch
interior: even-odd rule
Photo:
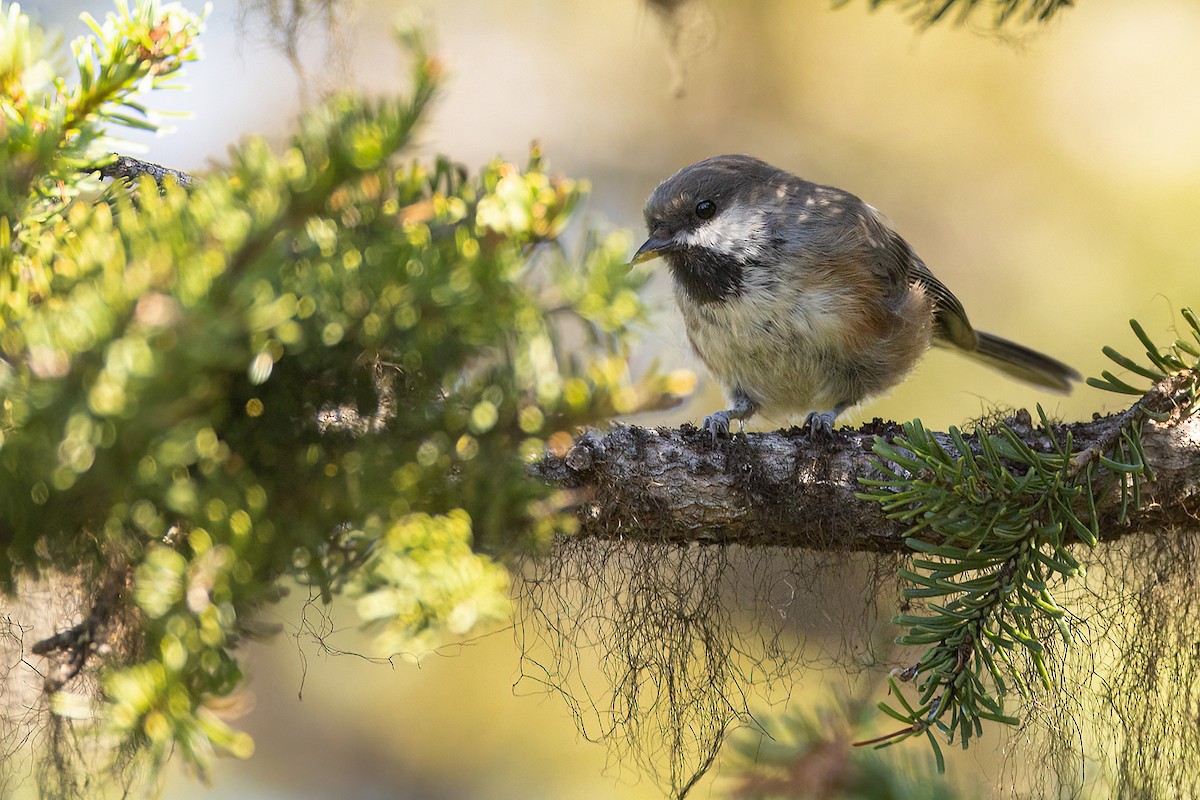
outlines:
[[[1010,684],[1025,691],[1026,662],[1049,688],[1045,624],[1070,640],[1051,589],[1080,570],[1068,534],[1088,543],[1098,536],[1072,511],[1082,488],[1063,481],[1069,438],[1039,453],[1006,425],[970,443],[956,428],[949,435],[953,450],[911,422],[894,443],[877,441],[884,476],[863,495],[912,523],[906,543],[916,555],[900,577],[913,584],[905,600],[926,612],[893,620],[907,628],[899,644],[929,648],[902,675],[916,681],[918,699],[910,703],[893,684],[900,708],[880,708],[910,726],[893,741],[925,734],[935,751],[935,726],[966,747],[986,720],[1015,723],[1002,698]]]

